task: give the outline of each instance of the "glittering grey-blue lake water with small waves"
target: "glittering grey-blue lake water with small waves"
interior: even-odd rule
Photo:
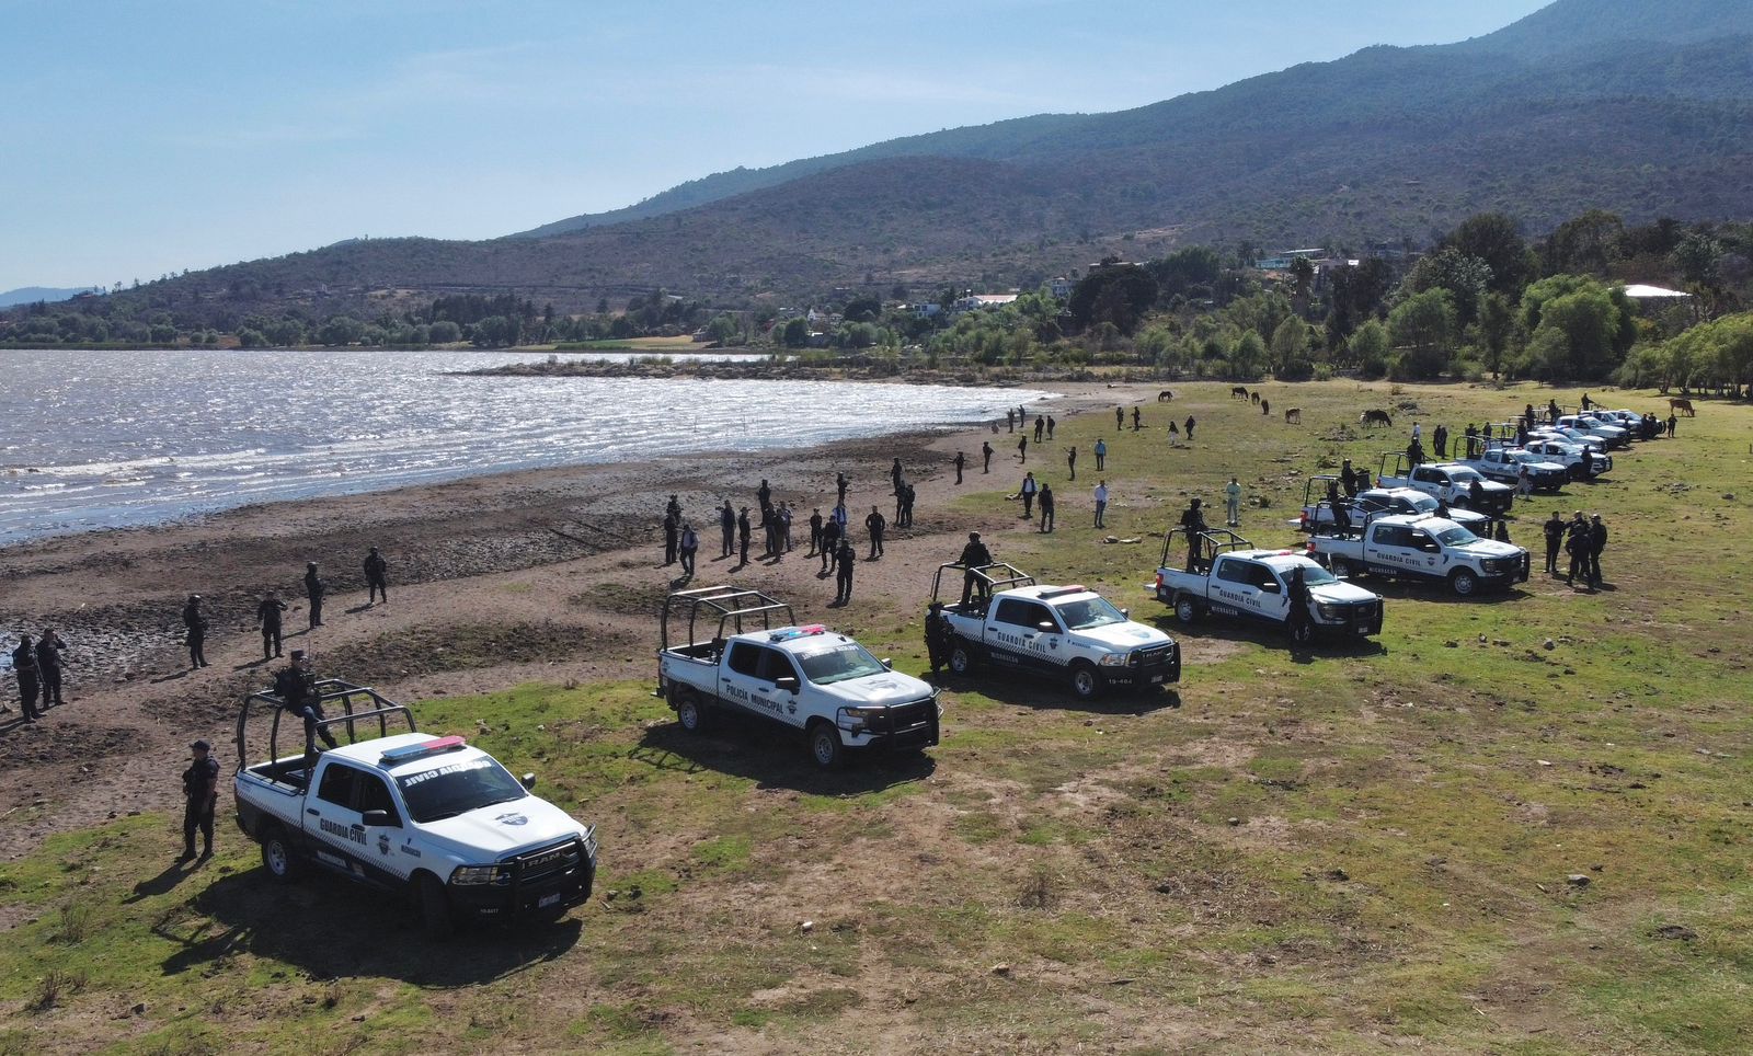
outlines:
[[[1047,398],[831,381],[451,374],[515,361],[529,356],[0,353],[0,546],[475,474],[806,447],[968,425]]]

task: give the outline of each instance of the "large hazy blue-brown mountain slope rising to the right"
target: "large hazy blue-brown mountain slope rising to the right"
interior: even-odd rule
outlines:
[[[557,310],[659,286],[796,303],[1036,284],[1190,240],[1422,244],[1485,210],[1539,233],[1595,207],[1753,216],[1753,0],[1558,0],[1460,44],[719,174],[519,237],[358,240],[140,293],[221,326],[295,305],[375,316],[449,291]]]

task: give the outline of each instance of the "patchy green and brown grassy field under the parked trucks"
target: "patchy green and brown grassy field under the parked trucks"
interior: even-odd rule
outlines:
[[[941,747],[834,774],[750,726],[687,738],[649,684],[429,702],[424,728],[601,824],[587,907],[435,945],[387,896],[270,886],[235,828],[167,868],[174,819],[121,810],[0,867],[0,1052],[1748,1051],[1753,409],[1700,403],[1523,510],[1523,544],[1551,509],[1600,512],[1608,589],[1374,584],[1374,647],[1292,653],[1143,600],[1187,496],[1239,475],[1267,502],[1243,532],[1288,542],[1302,474],[1404,446],[1362,407],[1416,403],[1429,437],[1551,393],[1267,395],[1306,425],[1218,386],[1176,388],[1194,447],[1155,403],[1136,435],[1061,421],[1061,530],[1003,539],[1175,633],[1178,695],[952,686]],[[1087,526],[1099,435],[1108,533],[1141,542]],[[922,670],[922,600],[855,630]]]

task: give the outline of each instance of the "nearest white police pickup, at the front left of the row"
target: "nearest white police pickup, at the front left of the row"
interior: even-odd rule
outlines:
[[[335,716],[321,724],[351,744],[282,756],[272,693],[249,695],[237,721],[237,823],[270,877],[314,865],[405,893],[435,938],[459,919],[556,917],[591,898],[596,830],[531,795],[533,774],[512,777],[461,737],[417,731],[407,707],[368,688],[324,679],[316,691]],[[272,712],[266,761],[245,768],[261,712]]]

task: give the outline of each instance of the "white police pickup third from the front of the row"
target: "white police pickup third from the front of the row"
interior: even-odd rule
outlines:
[[[945,595],[945,581],[962,595]],[[950,670],[980,665],[1047,675],[1094,700],[1110,686],[1150,689],[1182,679],[1175,639],[1129,619],[1085,586],[1045,586],[1011,565],[943,565],[931,596],[950,623]],[[961,600],[961,598],[966,598]]]

